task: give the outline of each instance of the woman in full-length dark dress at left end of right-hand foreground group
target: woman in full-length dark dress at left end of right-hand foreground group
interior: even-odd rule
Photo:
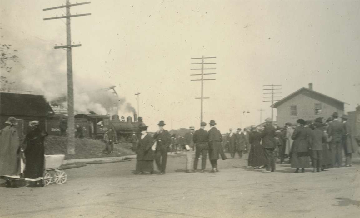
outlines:
[[[256,131],[256,126],[251,126],[251,132],[249,133],[249,142],[251,144],[248,166],[253,166],[253,169],[260,169],[260,166],[266,164],[266,158],[264,154],[264,148],[261,145],[261,133]]]

